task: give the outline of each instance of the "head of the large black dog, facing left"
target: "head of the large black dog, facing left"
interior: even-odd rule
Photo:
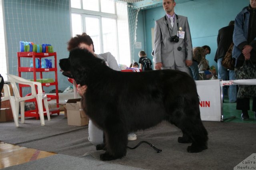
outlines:
[[[68,58],[60,59],[59,65],[67,77],[74,78],[77,84],[85,85],[89,73],[98,64],[106,65],[102,59],[95,57],[87,49],[75,48]],[[65,74],[63,74],[65,75]]]

